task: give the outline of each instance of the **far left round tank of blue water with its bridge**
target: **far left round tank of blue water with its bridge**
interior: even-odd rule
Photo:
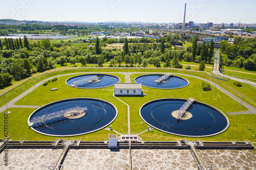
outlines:
[[[79,83],[78,83],[79,82]],[[75,88],[104,88],[119,83],[117,76],[106,74],[87,74],[69,78],[66,84]]]

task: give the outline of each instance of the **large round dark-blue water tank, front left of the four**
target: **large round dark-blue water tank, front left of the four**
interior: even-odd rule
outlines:
[[[60,117],[54,114],[71,108],[86,108],[67,111]],[[53,114],[53,119],[31,126],[33,118]],[[110,125],[117,117],[116,107],[104,100],[94,98],[74,98],[49,103],[36,109],[28,118],[28,125],[37,133],[49,136],[76,136],[98,131]]]

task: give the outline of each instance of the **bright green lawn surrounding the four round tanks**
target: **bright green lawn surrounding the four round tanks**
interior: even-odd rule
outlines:
[[[58,71],[57,75],[63,75],[71,72],[93,72],[98,71],[100,72],[157,72],[156,69],[134,69],[134,68],[124,68],[124,69],[106,69],[106,68],[83,68],[77,70],[63,70]],[[169,70],[169,69],[159,69],[159,72],[173,72],[181,73],[181,74],[188,74],[185,70]],[[193,76],[199,76],[211,81],[215,81],[214,78],[207,76],[205,73],[202,72],[192,72]],[[115,99],[112,94],[113,89],[112,87],[100,89],[77,89],[72,88],[65,84],[65,81],[78,74],[68,75],[59,77],[57,81],[48,84],[47,86],[39,86],[35,91],[32,91],[28,95],[26,95],[23,99],[19,100],[16,105],[45,105],[47,103],[62,100],[62,99],[69,99],[69,98],[79,98],[86,95],[88,98],[98,98],[102,100],[109,101],[113,103],[118,109],[118,116],[116,120],[113,122],[113,129],[117,130],[120,133],[127,132],[127,107],[117,99]],[[112,74],[116,75],[121,78],[121,82],[124,82],[123,76],[121,74]],[[130,77],[130,80],[135,79],[137,76],[141,74],[133,74]],[[37,77],[36,82],[44,80],[49,77],[55,76],[55,72],[50,73],[48,75]],[[233,112],[233,111],[246,111],[247,109],[231,98],[229,98],[226,94],[221,92],[220,90],[211,86],[211,91],[203,91],[201,84],[203,81],[191,78],[190,76],[181,76],[187,79],[190,84],[187,87],[175,90],[161,90],[161,89],[152,89],[143,87],[144,92],[147,94],[143,98],[141,97],[119,97],[119,99],[123,100],[125,103],[130,105],[130,119],[131,119],[131,132],[132,133],[139,133],[141,131],[146,130],[146,124],[141,124],[143,120],[139,116],[139,108],[146,102],[161,98],[169,98],[172,96],[173,98],[182,98],[188,99],[190,97],[194,97],[197,101],[209,104],[220,109],[222,112]],[[16,95],[22,93],[29,87],[33,86],[33,80],[28,81],[27,83],[20,85],[19,87],[15,88],[8,94],[8,100],[13,99]],[[231,93],[242,97],[242,92],[244,87],[249,85],[242,84],[242,87],[237,87],[233,85],[233,81],[221,81],[217,80],[217,84],[222,86],[223,88],[227,89]],[[50,91],[51,88],[57,87],[57,91]],[[15,92],[17,90],[17,92]],[[246,102],[251,104],[252,106],[256,107],[256,89],[254,87],[249,86],[244,90],[244,98]],[[169,92],[169,93],[167,93]],[[4,96],[2,96],[2,105],[4,104]],[[230,107],[232,106],[232,107]],[[32,131],[27,125],[28,116],[35,110],[35,109],[26,109],[26,108],[10,108],[10,114],[8,114],[8,123],[9,123],[9,135],[12,140],[19,140],[20,138],[25,137],[26,140],[54,140],[56,137],[44,136],[40,135],[34,131]],[[0,114],[1,118],[4,119],[3,113]],[[213,136],[213,137],[206,137],[203,140],[216,140],[216,141],[229,141],[231,138],[234,138],[238,141],[243,141],[243,139],[249,139],[250,141],[255,140],[255,129],[256,129],[256,115],[245,114],[245,115],[228,115],[230,126],[227,131],[223,132],[220,135]],[[4,125],[4,121],[0,122],[0,126]],[[15,125],[15,126],[13,126]],[[248,130],[248,127],[251,130]],[[109,133],[113,133],[112,131],[100,130],[94,132],[92,134],[81,135],[77,137],[81,137],[82,140],[104,140],[108,137]],[[150,134],[150,135],[149,135]],[[254,136],[253,136],[254,135]],[[3,133],[2,133],[3,136]],[[183,138],[181,136],[175,136],[160,132],[158,130],[153,130],[150,132],[143,133],[141,135],[145,140],[176,140],[177,138]],[[71,137],[74,138],[74,137]],[[190,138],[186,138],[190,139]],[[193,139],[193,138],[191,138]]]

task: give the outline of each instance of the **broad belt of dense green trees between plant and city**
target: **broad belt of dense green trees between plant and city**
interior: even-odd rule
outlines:
[[[71,63],[97,64],[102,67],[108,63],[110,67],[145,67],[154,64],[160,67],[182,68],[181,60],[200,62],[199,70],[204,70],[204,64],[212,64],[214,58],[214,43],[197,45],[198,38],[191,40],[192,45],[186,50],[178,50],[171,43],[177,37],[162,37],[154,40],[149,38],[137,39],[106,39],[96,40],[95,47],[70,47],[71,41],[51,43],[49,39],[33,41],[27,37],[22,39],[6,38],[0,40],[0,85],[7,86],[12,79],[16,81],[29,77],[35,72],[56,68],[56,64]],[[181,39],[181,38],[180,38]],[[123,43],[122,50],[104,48],[107,43]],[[159,43],[157,43],[159,42]],[[256,39],[241,37],[234,38],[234,43],[221,43],[221,53],[225,65],[236,65],[247,70],[256,68]],[[201,66],[202,65],[202,66]],[[190,67],[186,67],[189,69]]]

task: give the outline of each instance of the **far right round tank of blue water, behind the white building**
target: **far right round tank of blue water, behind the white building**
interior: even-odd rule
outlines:
[[[161,82],[157,82],[157,79],[161,76],[163,76],[163,74],[142,75],[136,77],[135,82],[141,83],[142,86],[158,89],[177,89],[189,85],[188,80],[174,75],[162,80]]]

